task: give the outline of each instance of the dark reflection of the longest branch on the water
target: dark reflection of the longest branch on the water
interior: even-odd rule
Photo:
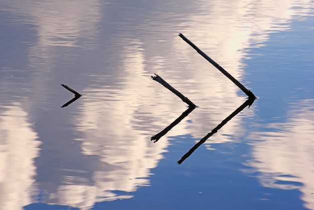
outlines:
[[[201,146],[206,140],[213,136],[215,133],[218,132],[224,125],[226,125],[234,116],[239,114],[244,108],[247,106],[251,106],[254,102],[255,97],[249,97],[238,109],[236,109],[231,115],[229,115],[225,120],[223,120],[216,128],[212,130],[212,132],[208,133],[205,137],[203,137],[197,144],[195,144],[189,152],[187,152],[182,158],[178,161],[178,164],[181,164],[185,159],[187,159],[199,146]]]

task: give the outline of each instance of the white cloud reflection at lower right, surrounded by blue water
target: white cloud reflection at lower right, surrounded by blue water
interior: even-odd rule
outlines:
[[[266,126],[271,131],[253,133],[253,160],[246,163],[258,172],[265,187],[298,189],[304,206],[314,209],[314,100],[302,100],[288,113],[286,123]],[[254,141],[257,140],[257,141]]]

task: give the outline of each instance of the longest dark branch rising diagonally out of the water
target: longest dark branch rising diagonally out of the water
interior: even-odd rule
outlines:
[[[226,77],[228,77],[233,83],[235,83],[247,96],[254,97],[256,96],[244,87],[238,80],[236,80],[231,74],[229,74],[223,67],[221,67],[218,63],[216,63],[213,59],[211,59],[208,55],[206,55],[202,50],[200,50],[195,44],[193,44],[188,38],[186,38],[183,34],[179,33],[179,36],[186,41],[191,47],[193,47],[200,55],[202,55],[206,60],[208,60],[211,64],[213,64],[221,73],[223,73]]]

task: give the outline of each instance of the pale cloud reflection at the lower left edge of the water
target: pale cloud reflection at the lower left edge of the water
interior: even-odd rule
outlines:
[[[40,142],[21,103],[0,110],[0,209],[23,209],[32,203]]]

